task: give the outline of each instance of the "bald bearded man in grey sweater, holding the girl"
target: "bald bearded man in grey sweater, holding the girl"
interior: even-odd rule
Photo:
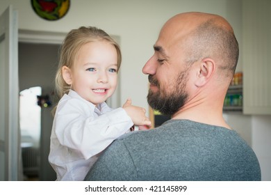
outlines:
[[[238,52],[223,17],[170,18],[142,72],[149,105],[171,120],[115,140],[85,180],[261,180],[254,151],[222,116]]]

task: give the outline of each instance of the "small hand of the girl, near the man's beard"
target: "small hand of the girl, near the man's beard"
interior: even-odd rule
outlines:
[[[133,106],[131,99],[126,100],[126,102],[123,104],[122,108],[130,116],[130,118],[132,119],[134,125],[151,126],[151,121],[145,115],[146,110],[144,108],[142,108],[142,107]]]

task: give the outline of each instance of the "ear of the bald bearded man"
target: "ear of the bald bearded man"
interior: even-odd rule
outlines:
[[[197,71],[196,86],[204,86],[211,79],[213,72],[215,72],[213,59],[203,59]]]

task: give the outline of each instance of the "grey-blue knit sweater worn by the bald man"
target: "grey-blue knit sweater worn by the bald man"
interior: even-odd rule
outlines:
[[[261,180],[261,169],[236,131],[168,120],[115,140],[85,180]]]

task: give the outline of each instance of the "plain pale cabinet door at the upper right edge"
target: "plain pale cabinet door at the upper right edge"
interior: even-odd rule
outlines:
[[[271,114],[271,1],[243,3],[244,114]]]

